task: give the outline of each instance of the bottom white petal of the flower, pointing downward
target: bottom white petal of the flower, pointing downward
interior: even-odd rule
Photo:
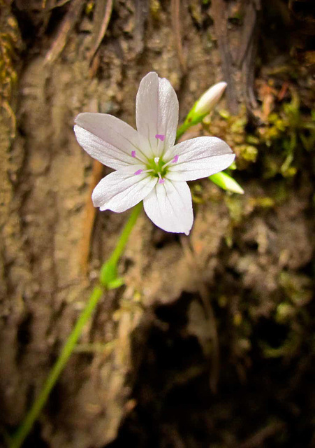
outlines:
[[[156,183],[143,200],[145,213],[151,221],[166,232],[189,235],[193,225],[191,193],[186,182]]]

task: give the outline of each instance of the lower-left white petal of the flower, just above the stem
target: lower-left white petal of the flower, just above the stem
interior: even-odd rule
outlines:
[[[147,173],[135,174],[143,165],[124,167],[105,176],[94,188],[94,207],[118,213],[131,209],[154,188],[157,178]]]

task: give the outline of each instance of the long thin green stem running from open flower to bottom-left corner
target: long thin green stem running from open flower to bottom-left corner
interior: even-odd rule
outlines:
[[[103,296],[103,293],[106,290],[106,286],[110,283],[110,281],[115,280],[113,276],[112,279],[105,279],[104,277],[105,272],[103,272],[104,267],[110,265],[110,267],[112,267],[112,269],[114,269],[116,272],[117,262],[119,261],[119,258],[122,255],[122,252],[124,251],[131,230],[133,229],[133,226],[137,221],[141,209],[142,209],[141,202],[140,204],[133,207],[131,215],[129,216],[129,220],[126,222],[126,225],[122,230],[122,233],[117,241],[117,245],[114,251],[112,252],[112,255],[110,256],[108,262],[105,262],[102,267],[102,272],[100,275],[100,284],[98,286],[95,286],[94,290],[92,291],[85,309],[83,309],[82,313],[80,314],[78,321],[75,323],[75,326],[71,331],[71,334],[68,336],[68,339],[66,340],[64,348],[61,350],[61,353],[56,363],[52,367],[52,370],[50,370],[50,374],[48,374],[48,377],[45,381],[45,384],[43,385],[41,392],[38,395],[38,398],[36,398],[36,401],[32,405],[31,409],[29,409],[29,412],[27,412],[27,416],[22,422],[20,428],[17,430],[17,433],[15,433],[15,436],[10,440],[8,444],[9,448],[20,448],[22,446],[22,443],[26,439],[27,435],[29,435],[29,432],[31,431],[31,428],[34,425],[34,422],[36,421],[36,419],[38,419],[38,415],[41,413],[41,410],[43,409],[45,403],[47,402],[50,392],[52,391],[52,388],[56,384],[62,370],[64,370],[64,367],[66,366],[66,363],[70,358],[71,353],[75,349],[75,345],[77,344],[78,339],[80,338],[85,323],[87,323],[87,321],[91,317],[91,314],[96,308],[96,305]]]

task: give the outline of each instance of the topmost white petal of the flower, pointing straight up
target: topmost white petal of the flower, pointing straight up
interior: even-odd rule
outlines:
[[[178,99],[166,78],[159,78],[154,71],[142,78],[135,102],[135,116],[141,148],[150,158],[163,154],[175,144]]]

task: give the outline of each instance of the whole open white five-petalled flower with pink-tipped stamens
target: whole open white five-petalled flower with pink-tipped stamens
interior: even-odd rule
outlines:
[[[106,113],[80,113],[75,136],[91,157],[115,172],[92,194],[100,210],[122,212],[143,200],[145,213],[167,232],[189,235],[194,181],[226,169],[235,155],[216,137],[175,144],[178,100],[166,78],[151,72],[140,83],[135,116],[138,132]]]

